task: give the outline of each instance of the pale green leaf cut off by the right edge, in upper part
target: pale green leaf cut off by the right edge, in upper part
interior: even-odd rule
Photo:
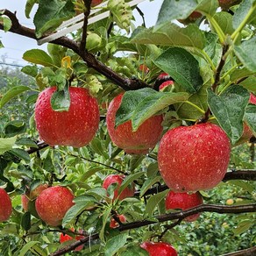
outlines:
[[[234,52],[238,59],[252,72],[256,72],[256,37],[242,42],[239,46],[234,46]]]

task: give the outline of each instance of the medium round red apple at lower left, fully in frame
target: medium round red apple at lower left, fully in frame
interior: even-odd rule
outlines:
[[[58,226],[73,203],[73,193],[60,186],[46,188],[36,199],[39,217],[48,225]]]

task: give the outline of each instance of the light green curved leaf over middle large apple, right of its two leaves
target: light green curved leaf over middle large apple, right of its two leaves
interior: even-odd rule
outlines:
[[[160,110],[174,103],[181,103],[188,100],[188,93],[185,92],[159,92],[152,96],[147,96],[142,100],[132,114],[132,131],[136,132],[139,125],[144,123],[149,117],[157,114]]]

